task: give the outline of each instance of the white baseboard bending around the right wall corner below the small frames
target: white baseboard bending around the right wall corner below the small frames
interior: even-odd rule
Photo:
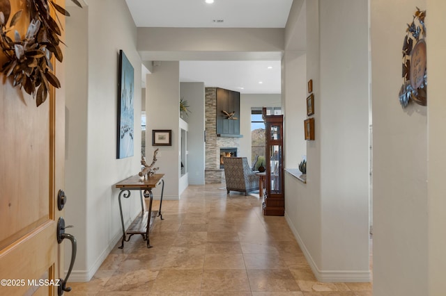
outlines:
[[[302,252],[304,253],[305,258],[307,259],[307,262],[312,268],[312,272],[314,274],[314,277],[318,281],[321,282],[370,282],[371,281],[371,273],[370,270],[363,271],[363,270],[320,270],[316,263],[314,262],[312,255],[308,252],[307,247],[305,246],[305,243],[303,242],[302,238],[300,237],[297,229],[295,229],[293,223],[291,222],[291,219],[289,215],[285,212],[285,219],[288,223],[291,231],[294,234],[295,239],[298,241],[298,244],[300,246],[300,249],[302,249]]]

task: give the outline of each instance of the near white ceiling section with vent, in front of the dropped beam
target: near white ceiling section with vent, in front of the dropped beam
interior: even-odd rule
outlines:
[[[138,27],[284,28],[293,0],[125,0]]]

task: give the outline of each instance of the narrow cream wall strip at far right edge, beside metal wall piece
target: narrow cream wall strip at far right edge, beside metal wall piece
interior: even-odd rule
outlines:
[[[444,28],[446,2],[426,0],[428,97],[428,291],[429,295],[445,293],[446,270],[446,104],[444,100],[444,69],[446,67]]]

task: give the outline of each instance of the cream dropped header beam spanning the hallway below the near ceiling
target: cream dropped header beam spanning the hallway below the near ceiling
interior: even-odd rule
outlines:
[[[279,58],[283,28],[138,28],[143,60]]]

